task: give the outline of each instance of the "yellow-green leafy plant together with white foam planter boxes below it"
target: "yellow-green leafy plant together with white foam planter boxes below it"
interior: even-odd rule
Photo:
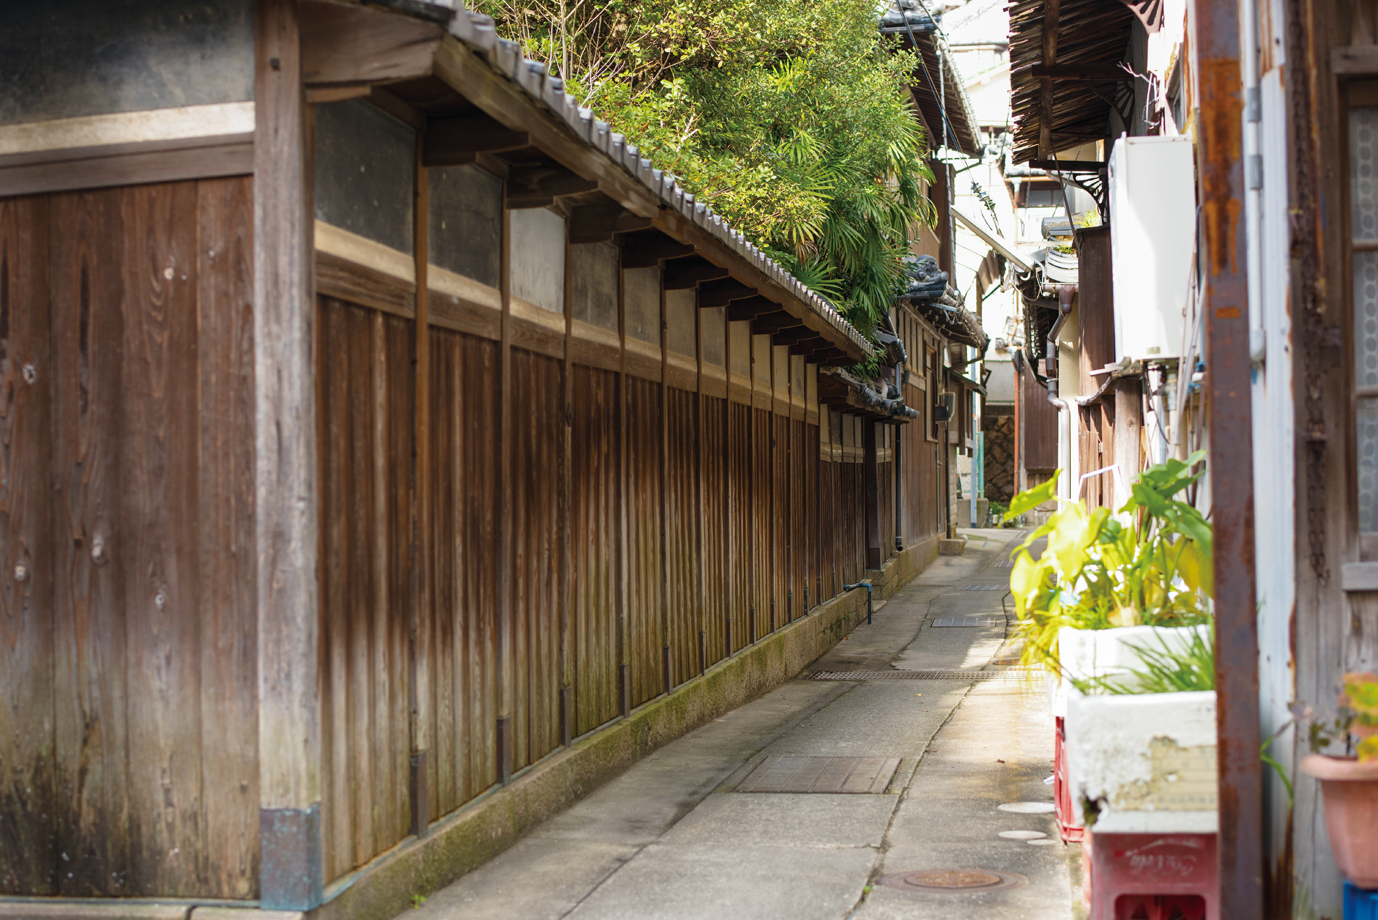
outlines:
[[[1155,687],[1144,676],[1153,668],[1140,671],[1155,654],[1164,667],[1213,654],[1211,526],[1181,497],[1204,474],[1203,460],[1195,453],[1145,470],[1113,515],[1057,500],[1051,516],[1014,551],[1014,632],[1021,662],[1049,671],[1058,741],[1054,795],[1067,840],[1080,836],[1087,808],[1093,818],[1113,814],[1105,826],[1120,832],[1214,829],[1215,803],[1207,795],[1214,789],[1214,691],[1173,675],[1156,690],[1175,693],[1149,698]],[[1020,493],[1010,515],[1056,500],[1056,488],[1054,477]],[[1040,537],[1047,548],[1035,558]],[[1156,751],[1158,735],[1177,746]],[[1186,784],[1158,789],[1156,774],[1202,770],[1210,775],[1193,784],[1200,795],[1191,800],[1181,795]],[[1133,795],[1116,795],[1120,786]],[[1163,796],[1173,800],[1159,803]],[[1163,804],[1167,810],[1158,811]]]

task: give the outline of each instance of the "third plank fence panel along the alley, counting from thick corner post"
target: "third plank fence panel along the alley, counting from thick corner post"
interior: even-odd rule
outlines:
[[[513,770],[559,745],[561,361],[513,353]]]

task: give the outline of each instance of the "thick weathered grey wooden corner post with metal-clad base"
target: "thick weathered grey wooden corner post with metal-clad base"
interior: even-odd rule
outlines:
[[[321,903],[314,175],[292,0],[255,7],[259,903]]]

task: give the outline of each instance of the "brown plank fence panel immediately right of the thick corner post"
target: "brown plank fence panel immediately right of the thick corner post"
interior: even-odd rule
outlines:
[[[321,299],[321,832],[335,879],[408,833],[412,324]]]

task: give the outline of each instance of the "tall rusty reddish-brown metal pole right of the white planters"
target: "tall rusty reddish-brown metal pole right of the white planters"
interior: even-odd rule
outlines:
[[[1264,916],[1240,0],[1193,0],[1200,253],[1215,519],[1220,916]],[[1246,10],[1247,14],[1247,10]]]

